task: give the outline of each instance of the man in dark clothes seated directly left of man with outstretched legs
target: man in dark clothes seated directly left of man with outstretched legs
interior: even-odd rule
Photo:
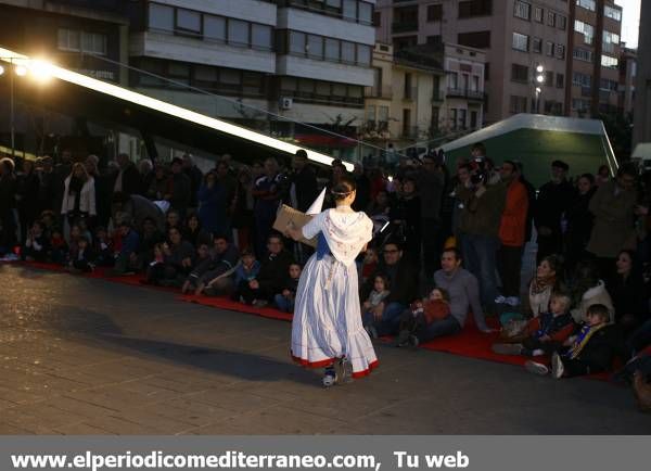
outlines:
[[[168,231],[169,242],[163,243],[163,263],[150,265],[146,270],[146,283],[174,287],[192,270],[194,247],[181,237],[178,228]]]

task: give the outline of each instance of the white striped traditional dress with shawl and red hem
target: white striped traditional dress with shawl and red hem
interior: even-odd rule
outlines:
[[[353,378],[368,374],[378,357],[361,324],[355,258],[372,238],[373,224],[363,213],[324,211],[303,227],[319,236],[296,292],[292,322],[292,357],[322,368],[346,357]]]

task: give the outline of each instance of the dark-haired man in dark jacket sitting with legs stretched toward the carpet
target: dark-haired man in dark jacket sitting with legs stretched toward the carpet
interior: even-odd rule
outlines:
[[[235,287],[234,269],[238,258],[238,247],[226,236],[215,236],[210,257],[192,269],[181,291],[187,293],[193,289],[195,295],[205,292],[210,296],[230,294]]]

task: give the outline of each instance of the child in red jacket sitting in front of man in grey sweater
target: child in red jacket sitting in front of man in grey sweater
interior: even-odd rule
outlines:
[[[419,300],[400,316],[397,346],[418,346],[419,333],[436,320],[450,315],[450,296],[446,290],[435,288],[425,300]]]

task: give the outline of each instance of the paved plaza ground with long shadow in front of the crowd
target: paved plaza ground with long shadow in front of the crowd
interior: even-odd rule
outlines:
[[[638,434],[629,389],[378,346],[324,390],[290,323],[0,266],[0,434]]]

